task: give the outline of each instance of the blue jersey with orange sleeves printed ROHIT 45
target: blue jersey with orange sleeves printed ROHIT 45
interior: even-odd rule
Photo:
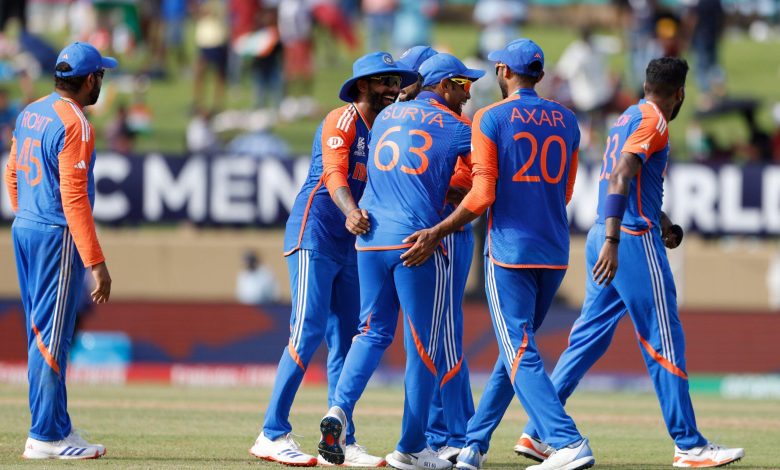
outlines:
[[[6,186],[17,219],[68,227],[85,266],[105,260],[98,243],[95,136],[81,106],[52,93],[16,120]]]

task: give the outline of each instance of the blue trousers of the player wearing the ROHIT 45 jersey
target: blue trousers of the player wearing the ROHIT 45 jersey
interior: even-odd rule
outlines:
[[[85,268],[67,227],[16,219],[11,234],[27,328],[29,436],[58,441],[71,431],[65,372]]]

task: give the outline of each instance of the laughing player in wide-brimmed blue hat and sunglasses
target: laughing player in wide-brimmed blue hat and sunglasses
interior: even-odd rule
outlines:
[[[377,114],[395,102],[401,87],[417,79],[416,73],[398,67],[386,52],[357,59],[352,70],[353,76],[339,93],[348,104],[331,111],[314,136],[309,175],[285,230],[284,255],[293,304],[290,341],[279,361],[263,429],[250,449],[258,458],[285,465],[317,464],[292,438],[290,408],[323,337],[328,346],[329,405],[333,401],[344,357],[358,333],[355,234],[365,233],[369,220],[355,201],[366,185],[368,132]],[[354,467],[385,464],[355,442],[353,427],[346,434],[340,463]]]

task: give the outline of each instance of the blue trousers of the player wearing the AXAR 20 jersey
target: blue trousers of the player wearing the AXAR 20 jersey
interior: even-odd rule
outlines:
[[[512,395],[517,395],[528,416],[539,423],[539,435],[552,447],[560,449],[582,439],[555,394],[535,340],[565,274],[559,269],[504,268],[485,259],[485,284],[499,359],[468,423],[467,445],[487,452]]]

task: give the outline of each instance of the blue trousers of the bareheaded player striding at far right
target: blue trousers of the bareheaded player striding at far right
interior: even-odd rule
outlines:
[[[588,233],[587,273],[592,272],[604,243],[604,225]],[[644,235],[623,234],[620,265],[609,286],[587,277],[582,313],[574,322],[569,346],[561,354],[551,379],[561,402],[574,393],[580,379],[604,355],[618,322],[628,312],[639,349],[661,403],[666,428],[680,449],[706,444],[696,427],[685,372],[685,337],[677,313],[677,291],[658,229]],[[539,421],[526,432],[539,436]]]

